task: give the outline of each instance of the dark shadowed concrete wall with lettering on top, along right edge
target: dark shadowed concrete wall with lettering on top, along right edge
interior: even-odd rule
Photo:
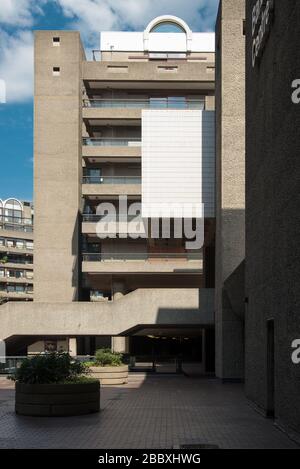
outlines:
[[[299,432],[300,104],[291,97],[300,2],[248,0],[246,9],[246,394]]]

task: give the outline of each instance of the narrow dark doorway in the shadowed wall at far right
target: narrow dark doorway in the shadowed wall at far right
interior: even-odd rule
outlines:
[[[274,319],[267,321],[267,417],[275,417],[275,337]]]

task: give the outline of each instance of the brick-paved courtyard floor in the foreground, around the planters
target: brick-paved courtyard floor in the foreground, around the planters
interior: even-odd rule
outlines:
[[[215,379],[132,374],[101,389],[101,412],[37,418],[14,413],[13,383],[0,378],[0,448],[298,448],[248,405],[242,386]]]

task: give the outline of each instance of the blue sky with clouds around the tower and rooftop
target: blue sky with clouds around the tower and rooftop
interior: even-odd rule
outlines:
[[[0,198],[32,200],[33,31],[78,29],[87,50],[99,32],[143,30],[156,16],[184,19],[195,31],[212,31],[219,0],[0,0]]]

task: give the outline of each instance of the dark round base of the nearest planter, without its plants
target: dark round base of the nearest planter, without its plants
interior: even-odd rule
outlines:
[[[85,415],[100,410],[100,383],[16,383],[18,415],[61,417]]]

